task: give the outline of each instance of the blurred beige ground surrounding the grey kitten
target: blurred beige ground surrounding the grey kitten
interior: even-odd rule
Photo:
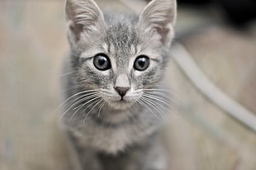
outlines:
[[[182,44],[217,87],[255,113],[256,26],[237,31],[198,11],[178,10],[177,35],[189,33]],[[73,169],[55,116],[65,30],[64,1],[0,2],[1,170]],[[178,103],[166,131],[169,169],[256,169],[256,135],[197,91],[173,60],[167,79]]]

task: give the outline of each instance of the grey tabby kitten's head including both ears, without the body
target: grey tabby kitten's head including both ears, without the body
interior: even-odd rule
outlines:
[[[155,87],[168,60],[176,0],[153,0],[140,17],[103,14],[92,0],[67,0],[66,17],[77,83],[116,109]]]

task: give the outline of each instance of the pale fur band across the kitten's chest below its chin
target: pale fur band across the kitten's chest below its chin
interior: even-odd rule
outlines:
[[[157,127],[152,121],[130,122],[125,125],[106,126],[87,122],[80,130],[72,130],[78,138],[79,144],[98,151],[117,153],[126,149],[127,145],[135,144],[150,135]]]

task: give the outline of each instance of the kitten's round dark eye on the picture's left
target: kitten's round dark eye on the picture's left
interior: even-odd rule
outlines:
[[[97,54],[93,58],[94,66],[99,70],[107,70],[111,68],[111,63],[106,54]]]

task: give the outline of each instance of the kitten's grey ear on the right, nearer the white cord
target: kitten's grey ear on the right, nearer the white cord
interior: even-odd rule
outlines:
[[[153,0],[140,14],[139,28],[144,33],[160,35],[164,45],[173,39],[173,26],[176,21],[176,0]]]

